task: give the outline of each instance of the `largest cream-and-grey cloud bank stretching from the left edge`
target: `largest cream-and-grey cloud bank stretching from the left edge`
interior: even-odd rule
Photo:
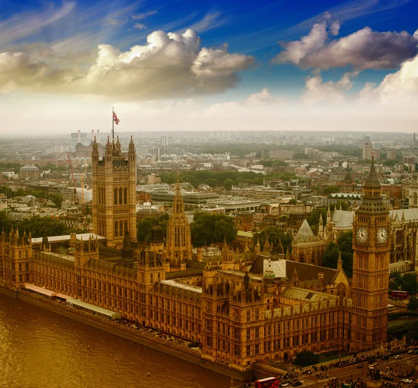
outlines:
[[[201,47],[196,31],[183,34],[154,31],[145,45],[126,52],[99,45],[88,68],[57,63],[45,52],[34,60],[24,52],[0,53],[0,88],[31,92],[103,95],[121,100],[185,98],[222,93],[240,82],[238,72],[254,58],[228,51],[227,45]],[[54,63],[52,65],[52,63]]]

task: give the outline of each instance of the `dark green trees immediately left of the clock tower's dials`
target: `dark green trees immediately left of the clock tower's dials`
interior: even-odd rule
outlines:
[[[353,231],[341,233],[337,243],[330,242],[322,257],[322,265],[327,268],[336,269],[339,253],[343,270],[348,277],[353,276]]]

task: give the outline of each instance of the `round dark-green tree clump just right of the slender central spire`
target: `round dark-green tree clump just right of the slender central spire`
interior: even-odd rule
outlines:
[[[212,242],[231,243],[237,236],[233,219],[222,214],[195,212],[192,224],[192,241],[195,247]]]

